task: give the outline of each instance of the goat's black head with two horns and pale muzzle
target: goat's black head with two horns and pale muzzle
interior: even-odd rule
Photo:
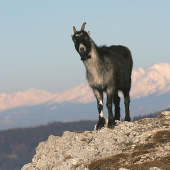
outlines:
[[[90,32],[84,31],[85,24],[84,22],[80,31],[77,31],[76,28],[73,27],[74,35],[72,35],[75,49],[80,54],[81,60],[83,61],[91,57],[89,55],[91,51]]]

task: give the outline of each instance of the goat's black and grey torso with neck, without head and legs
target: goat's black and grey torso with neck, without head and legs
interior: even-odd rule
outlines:
[[[118,90],[130,90],[132,57],[124,46],[97,47],[93,41],[91,58],[84,61],[89,86],[103,92],[108,87]]]

